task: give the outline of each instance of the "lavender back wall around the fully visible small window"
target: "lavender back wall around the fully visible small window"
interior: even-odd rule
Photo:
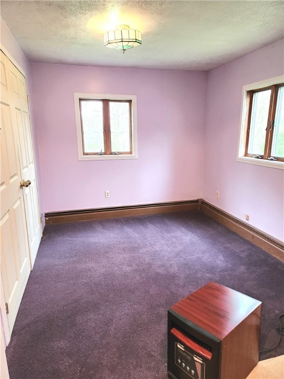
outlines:
[[[207,73],[31,68],[45,212],[202,197]],[[138,159],[78,160],[74,92],[137,95]]]

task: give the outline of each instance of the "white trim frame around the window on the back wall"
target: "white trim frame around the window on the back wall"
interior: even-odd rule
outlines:
[[[132,154],[111,154],[95,155],[84,154],[83,137],[81,129],[81,100],[113,100],[113,101],[131,101],[132,102]],[[137,138],[137,96],[136,95],[119,95],[119,94],[94,94],[94,93],[74,93],[75,123],[77,135],[78,160],[111,160],[111,159],[138,159],[138,138]]]

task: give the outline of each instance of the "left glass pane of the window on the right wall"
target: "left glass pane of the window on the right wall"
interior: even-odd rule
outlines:
[[[249,131],[249,154],[263,155],[264,153],[270,95],[270,89],[253,94]]]

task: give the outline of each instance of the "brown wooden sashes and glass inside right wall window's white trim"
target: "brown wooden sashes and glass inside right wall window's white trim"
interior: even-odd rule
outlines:
[[[284,83],[247,92],[245,156],[284,161]]]

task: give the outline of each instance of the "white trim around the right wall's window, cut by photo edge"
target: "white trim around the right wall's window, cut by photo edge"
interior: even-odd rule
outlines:
[[[283,83],[284,76],[276,76],[270,79],[258,81],[243,86],[242,94],[242,107],[241,107],[241,120],[240,120],[240,130],[239,130],[239,144],[238,144],[238,155],[237,161],[243,163],[256,164],[258,166],[266,166],[271,168],[278,168],[284,170],[284,161],[271,161],[268,159],[257,159],[251,156],[245,156],[246,146],[247,146],[247,124],[248,124],[248,92],[265,89],[266,87],[271,87],[273,85],[278,85]]]

